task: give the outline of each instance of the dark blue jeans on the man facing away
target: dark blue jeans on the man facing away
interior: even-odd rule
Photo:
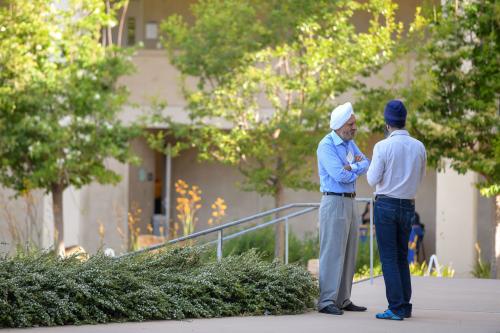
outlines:
[[[374,218],[389,309],[397,315],[411,315],[411,279],[408,240],[415,203],[410,200],[377,198]]]

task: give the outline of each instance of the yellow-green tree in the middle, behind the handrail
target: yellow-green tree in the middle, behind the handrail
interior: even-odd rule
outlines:
[[[174,153],[196,147],[201,160],[237,166],[243,189],[273,196],[276,207],[285,188],[315,189],[315,151],[335,98],[390,59],[401,29],[395,9],[389,0],[206,0],[193,7],[193,25],[168,19],[171,61],[200,78],[185,89],[190,123],[169,122]],[[353,25],[360,12],[364,32]],[[151,142],[161,147],[165,135]],[[278,226],[278,258],[283,244]]]

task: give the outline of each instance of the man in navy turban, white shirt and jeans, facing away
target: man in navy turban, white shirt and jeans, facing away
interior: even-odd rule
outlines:
[[[411,317],[408,239],[415,215],[415,194],[425,175],[424,145],[405,130],[406,108],[392,100],[384,110],[388,137],[373,148],[367,178],[375,186],[375,229],[388,309],[378,319]]]

